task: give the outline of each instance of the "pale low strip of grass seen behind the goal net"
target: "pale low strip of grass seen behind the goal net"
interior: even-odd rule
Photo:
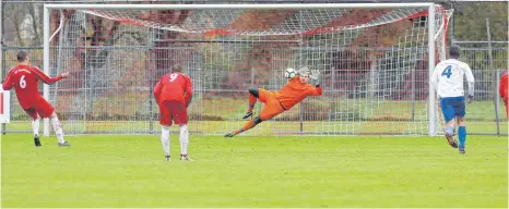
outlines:
[[[247,120],[246,120],[247,121]],[[192,133],[208,133],[223,135],[226,132],[240,128],[246,121],[190,121],[189,131]],[[87,121],[87,122],[75,122],[70,123],[62,121],[63,132],[66,135],[75,135],[82,133],[104,133],[104,134],[129,134],[132,132],[145,132],[150,131],[150,122],[147,121]],[[439,131],[442,131],[443,126],[438,125]],[[40,130],[43,123],[40,123]],[[32,124],[28,121],[13,122],[7,124],[8,131],[21,131],[31,133]],[[171,128],[178,131],[177,126]],[[254,128],[246,132],[246,135],[262,135],[262,136],[274,136],[282,135],[285,132],[298,133],[300,130],[299,122],[274,122],[267,121],[260,123]],[[334,132],[335,135],[382,135],[382,134],[417,134],[427,135],[427,124],[419,122],[315,122],[305,121],[303,122],[303,130],[305,133],[322,134],[327,132]],[[478,122],[478,121],[466,121],[466,130],[469,134],[496,134],[495,122]],[[161,132],[158,121],[153,122],[153,131]],[[458,131],[458,130],[457,130]],[[52,131],[50,128],[51,134]],[[500,134],[508,134],[508,123],[506,121],[500,122]]]

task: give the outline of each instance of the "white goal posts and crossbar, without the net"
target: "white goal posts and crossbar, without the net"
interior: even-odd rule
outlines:
[[[433,2],[425,3],[279,3],[279,4],[44,4],[44,73],[49,75],[49,44],[50,44],[50,10],[268,10],[268,9],[394,9],[412,8],[425,9],[428,11],[427,16],[436,15],[436,5]],[[428,82],[433,76],[436,63],[436,40],[435,40],[435,19],[426,19],[428,24]],[[445,37],[445,36],[443,36]],[[442,40],[446,41],[446,40]],[[441,56],[445,56],[446,46],[441,45],[439,49]],[[438,131],[438,118],[436,116],[433,85],[428,85],[428,135],[435,136]],[[43,97],[49,100],[49,85],[44,84]],[[49,119],[44,119],[44,135],[49,136]]]

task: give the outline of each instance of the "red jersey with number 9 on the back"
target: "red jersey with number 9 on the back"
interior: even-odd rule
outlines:
[[[154,98],[157,103],[178,100],[187,104],[191,97],[191,78],[184,73],[171,73],[161,77],[154,88]]]

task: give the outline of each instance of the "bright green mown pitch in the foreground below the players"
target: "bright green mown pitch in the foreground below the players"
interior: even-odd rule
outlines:
[[[2,136],[2,207],[504,207],[507,138]]]

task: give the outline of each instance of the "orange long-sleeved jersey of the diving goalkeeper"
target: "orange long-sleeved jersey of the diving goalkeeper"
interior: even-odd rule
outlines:
[[[285,86],[283,86],[280,91],[275,93],[275,98],[285,110],[289,110],[307,96],[322,95],[320,87],[315,87],[310,84],[303,84],[298,77],[299,76],[295,76]]]

